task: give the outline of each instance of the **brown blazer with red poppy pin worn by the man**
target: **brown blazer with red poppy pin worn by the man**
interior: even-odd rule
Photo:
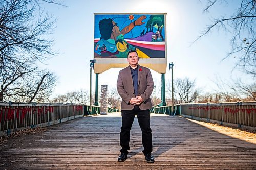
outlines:
[[[146,110],[152,108],[150,95],[154,88],[154,82],[150,69],[140,65],[138,65],[138,69],[138,95],[143,99],[143,103],[139,105],[139,108],[141,110]],[[132,110],[134,105],[130,104],[129,101],[131,98],[135,97],[135,94],[130,66],[119,72],[117,91],[122,98],[121,110]]]

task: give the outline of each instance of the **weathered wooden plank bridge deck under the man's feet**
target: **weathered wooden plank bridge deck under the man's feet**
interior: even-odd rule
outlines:
[[[256,169],[256,138],[228,136],[182,117],[151,117],[154,164],[144,160],[135,118],[131,150],[119,155],[120,113],[83,117],[0,146],[0,169]],[[225,127],[222,132],[225,131]],[[237,139],[241,138],[241,139]]]

